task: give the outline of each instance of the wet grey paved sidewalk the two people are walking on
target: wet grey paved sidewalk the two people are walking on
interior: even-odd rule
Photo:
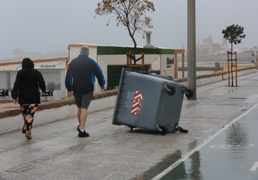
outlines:
[[[258,72],[227,85],[199,86],[196,101],[184,99],[179,125],[188,134],[112,125],[113,108],[88,115],[88,138],[77,136],[76,118],[34,127],[31,141],[0,134],[0,179],[152,179],[258,102]]]

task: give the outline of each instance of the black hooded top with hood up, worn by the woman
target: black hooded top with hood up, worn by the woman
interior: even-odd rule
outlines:
[[[16,81],[13,84],[12,98],[19,104],[39,104],[39,88],[45,92],[46,85],[42,74],[34,69],[34,63],[30,58],[24,58],[22,69],[17,72]]]

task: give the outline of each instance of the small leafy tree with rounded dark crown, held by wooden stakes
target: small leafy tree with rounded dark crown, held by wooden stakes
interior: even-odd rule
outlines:
[[[226,38],[228,42],[231,44],[231,78],[232,78],[232,86],[233,86],[233,44],[240,44],[242,39],[245,39],[244,27],[239,25],[231,25],[226,27],[226,30],[222,30],[223,38]]]

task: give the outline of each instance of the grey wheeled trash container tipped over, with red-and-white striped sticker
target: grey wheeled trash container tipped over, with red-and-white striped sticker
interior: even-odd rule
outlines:
[[[123,68],[112,124],[167,132],[178,126],[183,96],[192,91],[169,79]]]

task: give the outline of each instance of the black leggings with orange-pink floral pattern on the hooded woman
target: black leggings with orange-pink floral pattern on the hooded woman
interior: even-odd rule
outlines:
[[[37,104],[21,104],[20,111],[23,115],[23,133],[25,134],[26,131],[31,131],[32,129],[32,122],[34,120],[34,114],[37,111]]]

